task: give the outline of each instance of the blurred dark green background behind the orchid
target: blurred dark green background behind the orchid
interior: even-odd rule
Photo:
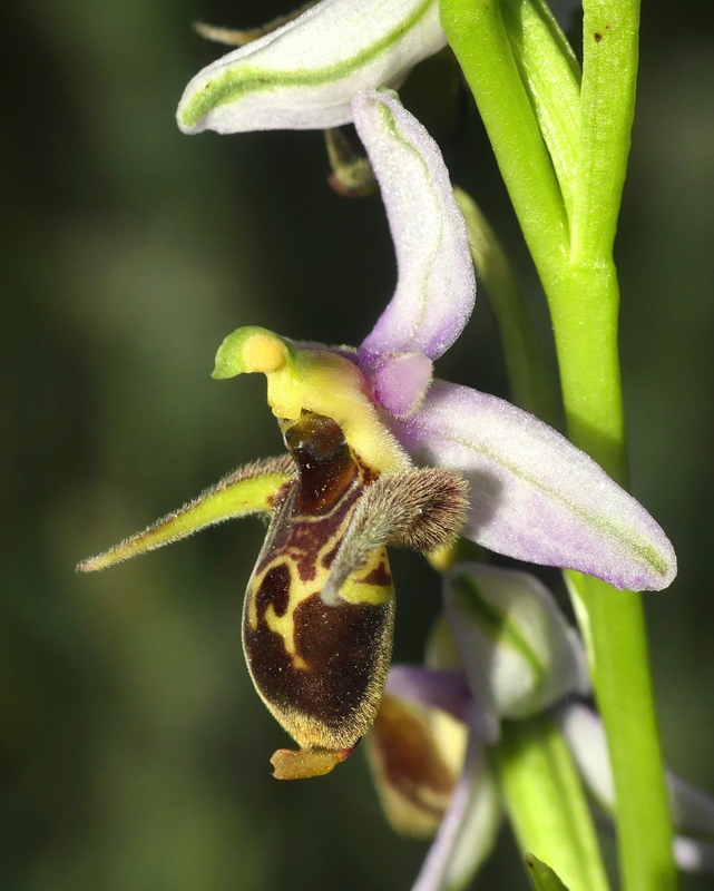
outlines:
[[[96,577],[74,566],[281,441],[264,380],[215,382],[238,325],[359,341],[394,283],[379,197],[325,183],[319,133],[182,136],[174,109],[284,0],[23,0],[0,30],[0,888],[405,891],[426,845],[384,824],[356,754],[277,783],[241,601],[261,544],[232,523]],[[633,484],[679,577],[647,597],[666,757],[714,793],[714,42],[708,4],[645,2],[618,238]],[[547,320],[478,117],[444,60],[405,102],[506,241]],[[549,347],[548,347],[549,349]],[[507,395],[485,300],[439,373]],[[397,653],[437,579],[394,557]],[[544,577],[557,584],[557,574]],[[687,889],[713,881],[687,879]],[[522,889],[508,833],[477,888]]]

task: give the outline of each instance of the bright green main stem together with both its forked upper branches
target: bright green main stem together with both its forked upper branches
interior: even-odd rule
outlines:
[[[612,247],[634,111],[638,11],[636,0],[586,0],[584,7],[569,221],[534,109],[537,102],[521,80],[499,4],[441,0],[441,21],[476,97],[548,297],[570,439],[626,484],[619,291]],[[527,58],[521,53],[521,67],[529,63]],[[557,140],[549,139],[548,146],[557,150]],[[560,161],[556,168],[560,175],[570,169]],[[623,887],[672,891],[677,884],[673,833],[642,599],[576,574],[569,582],[613,760]]]

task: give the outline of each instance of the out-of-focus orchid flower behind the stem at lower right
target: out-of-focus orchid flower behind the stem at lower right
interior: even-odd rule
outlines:
[[[424,667],[392,666],[366,737],[388,822],[434,840],[412,891],[463,889],[488,858],[503,816],[489,756],[501,719],[549,713],[595,801],[615,806],[603,724],[580,701],[590,692],[584,647],[551,594],[526,572],[457,564],[443,599]],[[714,871],[714,846],[696,838],[714,838],[714,800],[667,780],[675,824],[694,836],[675,841],[679,868]]]

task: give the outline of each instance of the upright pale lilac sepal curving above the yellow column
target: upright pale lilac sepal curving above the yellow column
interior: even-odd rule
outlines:
[[[397,252],[397,291],[360,346],[360,363],[385,353],[438,359],[459,336],[476,296],[466,223],[441,151],[399,99],[355,96],[354,126],[382,190]]]

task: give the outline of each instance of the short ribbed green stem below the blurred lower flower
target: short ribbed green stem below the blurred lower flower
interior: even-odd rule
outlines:
[[[607,891],[590,810],[560,732],[546,715],[502,727],[495,760],[520,850],[548,863],[569,891]]]

